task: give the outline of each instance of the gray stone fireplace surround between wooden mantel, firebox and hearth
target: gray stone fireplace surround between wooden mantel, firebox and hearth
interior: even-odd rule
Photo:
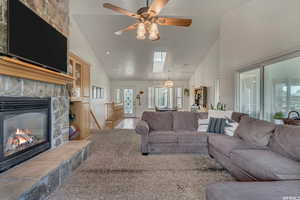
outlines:
[[[0,75],[0,97],[51,99],[51,148],[69,140],[69,97],[65,85]]]

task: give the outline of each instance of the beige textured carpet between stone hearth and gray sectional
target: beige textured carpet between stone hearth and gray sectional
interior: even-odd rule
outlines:
[[[49,200],[204,200],[207,185],[233,180],[208,156],[142,156],[132,130],[100,132],[92,140],[91,157]]]

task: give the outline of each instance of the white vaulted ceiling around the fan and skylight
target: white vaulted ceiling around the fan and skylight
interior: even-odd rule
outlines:
[[[112,80],[188,80],[218,38],[221,16],[250,0],[170,0],[162,16],[193,19],[190,28],[160,27],[161,40],[138,41],[136,33],[113,33],[135,20],[102,8],[112,3],[130,11],[146,0],[71,0],[71,14]],[[153,73],[155,50],[168,52],[164,73]],[[110,55],[106,55],[110,51]]]

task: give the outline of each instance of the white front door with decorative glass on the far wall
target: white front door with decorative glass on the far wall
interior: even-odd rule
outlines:
[[[124,115],[125,117],[135,117],[135,98],[134,89],[128,88],[123,90],[124,94]]]

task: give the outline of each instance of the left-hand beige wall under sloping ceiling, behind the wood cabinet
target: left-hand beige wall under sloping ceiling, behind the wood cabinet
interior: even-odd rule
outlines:
[[[92,109],[98,121],[104,127],[105,103],[110,101],[110,79],[104,71],[103,64],[95,56],[87,39],[72,17],[70,24],[70,51],[91,64],[91,84],[105,89],[104,99],[91,100]]]

